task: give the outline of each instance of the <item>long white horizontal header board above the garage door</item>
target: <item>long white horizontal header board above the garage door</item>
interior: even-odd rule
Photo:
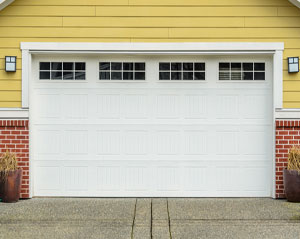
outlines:
[[[276,51],[283,50],[282,42],[203,42],[203,43],[74,43],[22,42],[22,50],[74,52],[206,52],[206,51]],[[50,53],[50,52],[49,52]]]

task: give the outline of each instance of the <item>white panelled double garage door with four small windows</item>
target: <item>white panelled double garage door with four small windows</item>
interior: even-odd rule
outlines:
[[[269,197],[259,56],[35,56],[34,196]]]

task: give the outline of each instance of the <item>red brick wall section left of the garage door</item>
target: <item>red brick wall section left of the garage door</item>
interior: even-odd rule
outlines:
[[[0,120],[0,151],[15,152],[23,168],[21,198],[29,198],[29,128],[28,120]]]

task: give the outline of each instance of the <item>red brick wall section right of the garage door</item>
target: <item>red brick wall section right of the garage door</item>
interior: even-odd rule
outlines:
[[[300,145],[300,120],[276,120],[276,198],[285,198],[282,171],[293,145]]]

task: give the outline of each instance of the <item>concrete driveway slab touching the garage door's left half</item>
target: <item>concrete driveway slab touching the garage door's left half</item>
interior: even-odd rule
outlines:
[[[0,203],[1,220],[112,220],[132,222],[135,199],[35,198]],[[16,213],[17,212],[17,213]]]

